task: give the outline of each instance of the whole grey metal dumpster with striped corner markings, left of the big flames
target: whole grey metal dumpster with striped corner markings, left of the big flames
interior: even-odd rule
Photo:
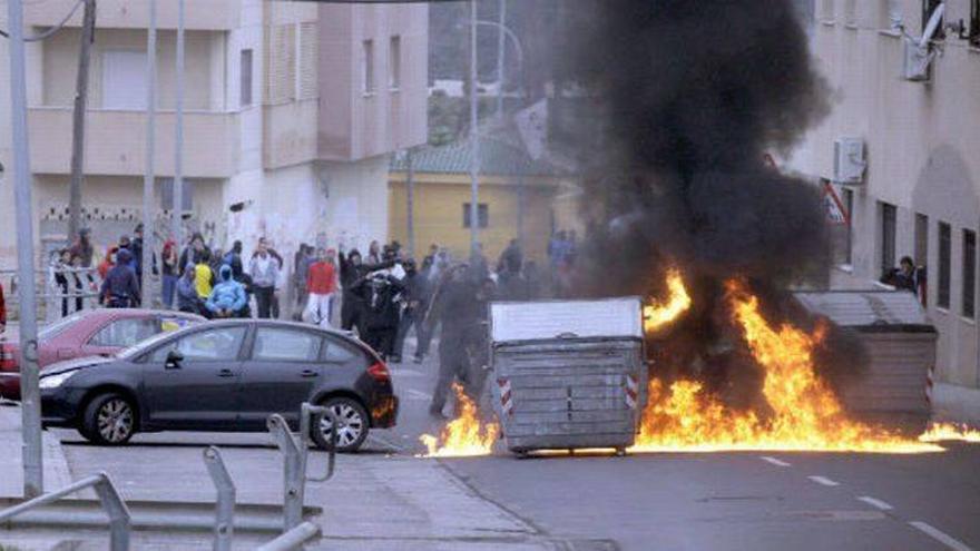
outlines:
[[[508,450],[634,443],[646,397],[639,297],[490,305],[493,405]]]

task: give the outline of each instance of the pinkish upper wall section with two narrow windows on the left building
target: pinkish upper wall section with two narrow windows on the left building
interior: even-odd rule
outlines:
[[[359,160],[424,144],[429,8],[320,8],[320,158]],[[401,82],[389,81],[391,38],[401,37]],[[373,41],[374,89],[363,89],[363,42]]]

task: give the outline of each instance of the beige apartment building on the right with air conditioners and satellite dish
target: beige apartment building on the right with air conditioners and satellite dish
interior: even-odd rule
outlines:
[[[931,63],[906,63],[915,50],[898,23],[919,39],[940,4]],[[849,210],[834,279],[872,285],[906,255],[925,266],[925,303],[940,332],[937,378],[977,388],[980,2],[816,0],[814,13],[812,52],[833,110],[792,166],[834,181]],[[835,154],[837,140],[856,147]]]

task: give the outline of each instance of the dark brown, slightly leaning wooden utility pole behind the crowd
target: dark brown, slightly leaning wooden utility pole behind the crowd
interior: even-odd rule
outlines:
[[[96,0],[84,0],[81,51],[75,80],[75,112],[71,126],[71,184],[68,198],[68,243],[78,238],[81,219],[81,186],[85,184],[85,111],[88,108],[88,66],[96,35]]]

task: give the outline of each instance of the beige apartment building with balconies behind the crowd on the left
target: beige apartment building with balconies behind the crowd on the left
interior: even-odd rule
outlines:
[[[24,2],[28,32],[76,0]],[[87,114],[84,225],[98,243],[141,218],[147,0],[99,0]],[[79,13],[28,49],[39,244],[63,243]],[[4,13],[6,14],[6,13]],[[168,235],[175,157],[177,3],[157,1],[157,232]],[[427,139],[428,7],[186,0],[185,197],[188,230],[215,247],[268,237],[362,246],[388,236],[388,157]],[[9,165],[6,45],[0,161]],[[0,187],[0,267],[13,264],[9,186]]]

